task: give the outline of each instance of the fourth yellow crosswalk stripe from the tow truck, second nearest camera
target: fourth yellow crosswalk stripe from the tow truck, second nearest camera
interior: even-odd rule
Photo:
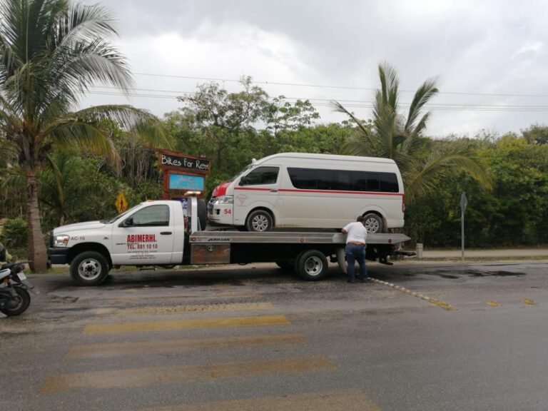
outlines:
[[[213,380],[215,378],[318,372],[336,369],[337,365],[335,363],[323,355],[318,355],[316,357],[227,362],[213,365],[178,365],[175,367],[78,372],[49,377],[42,385],[40,392],[46,394],[79,389],[145,387],[148,385],[172,384],[174,382]]]

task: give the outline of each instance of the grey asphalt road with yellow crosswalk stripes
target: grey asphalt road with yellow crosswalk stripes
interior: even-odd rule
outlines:
[[[548,261],[40,275],[0,410],[547,410]]]

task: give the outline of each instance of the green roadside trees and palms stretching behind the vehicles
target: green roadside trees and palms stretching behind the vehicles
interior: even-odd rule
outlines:
[[[120,191],[130,205],[160,196],[149,147],[210,158],[206,196],[252,158],[273,153],[393,158],[405,178],[404,231],[413,240],[458,246],[465,191],[467,246],[548,243],[547,126],[432,138],[432,113],[424,109],[437,94],[435,81],[425,81],[402,113],[397,72],[387,64],[379,66],[370,119],[335,102],[348,120],[320,123],[310,101],[268,96],[249,77],[235,93],[203,83],[163,119],[131,106],[78,110],[92,83],[132,85],[109,43],[116,31],[108,11],[65,0],[0,0],[0,16],[0,220],[9,227],[0,242],[26,250],[36,270],[45,268],[51,228],[115,215]]]

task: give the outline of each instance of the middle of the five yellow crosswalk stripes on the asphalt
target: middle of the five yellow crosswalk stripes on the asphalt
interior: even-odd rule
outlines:
[[[250,347],[255,345],[301,344],[304,342],[306,342],[306,340],[301,334],[271,334],[253,335],[250,337],[86,344],[72,347],[66,355],[66,358],[106,358],[124,355],[146,355],[164,352]]]

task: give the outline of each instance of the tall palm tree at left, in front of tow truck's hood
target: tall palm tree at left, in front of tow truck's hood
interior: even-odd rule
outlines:
[[[54,146],[81,146],[116,158],[101,121],[161,138],[159,122],[132,106],[76,111],[94,83],[127,93],[126,60],[110,43],[111,14],[68,0],[0,0],[0,138],[6,139],[26,178],[31,269],[46,269],[36,173]]]

